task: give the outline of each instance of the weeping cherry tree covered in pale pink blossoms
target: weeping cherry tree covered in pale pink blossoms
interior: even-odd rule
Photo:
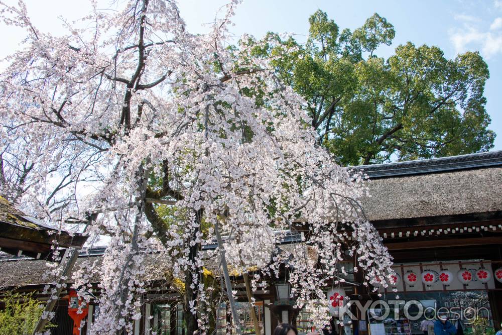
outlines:
[[[151,248],[185,280],[189,334],[209,327],[207,262],[226,273],[231,305],[227,263],[258,267],[257,287],[287,262],[296,304],[317,310],[318,326],[323,288],[346,275],[340,260],[355,258],[366,280],[393,273],[358,206],[361,176],[316,145],[306,101],[270,60],[245,44],[225,47],[235,3],[203,35],[187,31],[175,2],[129,0],[56,37],[22,2],[0,2],[1,18],[27,31],[0,74],[1,190],[39,219],[110,236],[102,263],[74,278],[101,278],[92,333],[133,332]],[[299,218],[310,244],[279,251]],[[215,252],[202,252],[215,241]]]

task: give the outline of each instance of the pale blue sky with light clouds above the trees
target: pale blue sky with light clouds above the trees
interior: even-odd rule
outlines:
[[[17,1],[16,1],[17,2]],[[103,7],[110,0],[98,1]],[[15,3],[14,0],[7,3]],[[204,32],[203,23],[213,21],[217,9],[228,0],[180,1],[181,15],[192,32]],[[58,16],[75,20],[88,12],[85,0],[27,0],[30,16],[41,30],[57,32],[61,29]],[[47,6],[51,4],[51,6]],[[379,13],[396,29],[391,47],[382,47],[377,55],[388,57],[394,48],[411,41],[416,45],[436,45],[445,56],[453,58],[459,52],[479,50],[488,64],[490,79],[486,83],[486,109],[491,117],[490,129],[497,133],[493,150],[502,150],[502,0],[486,1],[339,1],[339,0],[247,0],[236,9],[232,33],[249,33],[260,38],[268,31],[296,34],[303,42],[308,34],[308,17],[317,9],[328,13],[338,26],[360,27],[366,18]],[[5,27],[0,26],[2,32]],[[55,34],[56,35],[56,34]],[[0,35],[4,46],[0,57],[13,52],[23,37],[10,29]]]

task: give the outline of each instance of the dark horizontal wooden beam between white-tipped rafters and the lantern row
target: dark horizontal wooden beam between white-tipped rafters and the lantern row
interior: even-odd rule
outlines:
[[[384,243],[389,250],[428,249],[502,244],[502,236],[417,242]]]

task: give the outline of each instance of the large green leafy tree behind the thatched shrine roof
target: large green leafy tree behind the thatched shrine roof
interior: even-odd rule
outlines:
[[[394,27],[374,14],[340,32],[326,13],[309,18],[307,43],[283,40],[255,52],[275,59],[277,75],[308,102],[318,141],[345,164],[372,164],[487,151],[483,89],[488,68],[478,52],[447,59],[434,46],[408,42],[384,59]]]

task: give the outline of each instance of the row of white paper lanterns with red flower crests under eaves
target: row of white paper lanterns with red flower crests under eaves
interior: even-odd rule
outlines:
[[[492,273],[488,269],[460,269],[457,272],[457,279],[460,283],[467,285],[470,282],[478,281],[481,283],[487,283],[491,280]],[[403,280],[409,286],[414,286],[418,282],[424,283],[426,286],[432,286],[432,284],[441,282],[443,285],[450,285],[455,276],[448,270],[441,270],[436,272],[434,270],[425,270],[420,275],[414,271],[408,271],[404,274]],[[495,279],[502,283],[502,268],[495,270]],[[391,276],[390,286],[396,287],[401,282],[401,276],[396,274]],[[381,286],[379,278],[374,278],[370,283],[377,287]]]

